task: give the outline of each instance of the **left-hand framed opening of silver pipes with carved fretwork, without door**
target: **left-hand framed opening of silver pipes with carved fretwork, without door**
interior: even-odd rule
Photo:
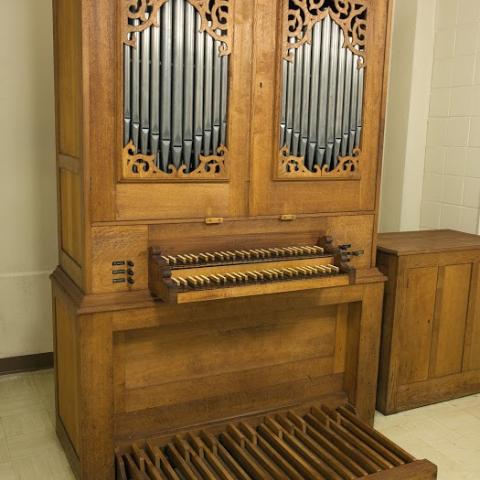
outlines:
[[[232,0],[121,0],[125,179],[227,180]]]

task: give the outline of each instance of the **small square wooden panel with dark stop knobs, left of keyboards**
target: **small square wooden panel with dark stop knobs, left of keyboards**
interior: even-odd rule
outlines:
[[[131,227],[94,227],[92,229],[92,292],[126,292],[148,288],[146,225]],[[112,265],[114,261],[133,262],[133,266]],[[113,271],[131,269],[135,283],[128,283],[126,274]],[[124,279],[124,283],[113,283]]]

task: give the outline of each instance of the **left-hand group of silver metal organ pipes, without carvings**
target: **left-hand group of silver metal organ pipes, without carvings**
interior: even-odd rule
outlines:
[[[185,0],[166,2],[157,23],[124,49],[124,143],[154,155],[164,171],[188,172],[226,145],[228,56],[200,32],[201,17]]]

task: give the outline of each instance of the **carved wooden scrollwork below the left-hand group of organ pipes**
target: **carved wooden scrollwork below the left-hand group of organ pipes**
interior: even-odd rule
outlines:
[[[226,180],[228,178],[228,150],[220,145],[217,155],[200,155],[195,170],[187,171],[186,165],[175,167],[170,164],[167,171],[155,164],[153,155],[140,155],[130,142],[123,149],[123,177],[125,179],[148,180]]]

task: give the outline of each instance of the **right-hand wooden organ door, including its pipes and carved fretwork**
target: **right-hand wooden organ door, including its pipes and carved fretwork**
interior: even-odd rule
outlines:
[[[258,0],[254,214],[373,210],[388,0]]]

